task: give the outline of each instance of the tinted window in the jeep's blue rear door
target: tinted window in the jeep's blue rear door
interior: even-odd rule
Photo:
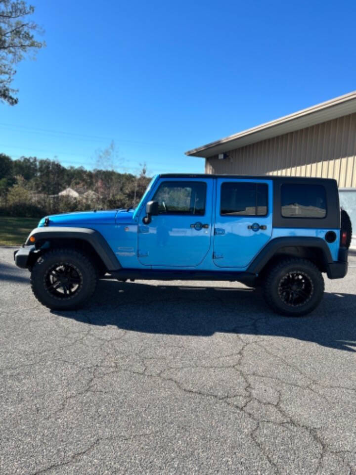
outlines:
[[[220,214],[266,216],[268,185],[252,182],[225,182],[221,187]]]

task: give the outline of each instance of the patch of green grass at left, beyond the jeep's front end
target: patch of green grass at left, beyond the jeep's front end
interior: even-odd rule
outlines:
[[[0,246],[23,244],[40,218],[13,218],[0,216]]]

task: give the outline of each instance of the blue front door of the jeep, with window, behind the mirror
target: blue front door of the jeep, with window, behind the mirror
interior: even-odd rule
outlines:
[[[194,267],[207,255],[212,234],[212,179],[162,178],[154,196],[159,215],[140,214],[138,260],[147,266]]]

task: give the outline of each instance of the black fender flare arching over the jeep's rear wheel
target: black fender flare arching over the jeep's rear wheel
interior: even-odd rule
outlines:
[[[247,272],[259,274],[267,262],[283,247],[315,247],[322,251],[325,267],[333,263],[329,246],[322,238],[292,236],[286,238],[273,238],[255,257],[249,265]]]

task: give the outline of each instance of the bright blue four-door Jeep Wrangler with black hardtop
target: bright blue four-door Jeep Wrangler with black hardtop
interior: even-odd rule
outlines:
[[[47,216],[15,251],[51,309],[86,302],[97,280],[237,281],[283,315],[305,315],[345,277],[352,235],[335,180],[158,175],[135,209]]]

